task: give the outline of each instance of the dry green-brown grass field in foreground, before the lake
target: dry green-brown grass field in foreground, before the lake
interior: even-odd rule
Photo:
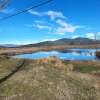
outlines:
[[[100,100],[99,75],[97,61],[3,58],[0,100]]]

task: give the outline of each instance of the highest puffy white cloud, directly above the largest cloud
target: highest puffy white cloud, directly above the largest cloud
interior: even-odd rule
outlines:
[[[51,20],[54,20],[55,18],[66,18],[61,12],[57,11],[47,11],[44,14],[51,17]]]

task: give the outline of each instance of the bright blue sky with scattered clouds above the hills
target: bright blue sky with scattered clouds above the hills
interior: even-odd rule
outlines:
[[[2,0],[0,0],[2,1]],[[48,0],[11,0],[0,19]],[[100,39],[100,0],[53,0],[0,21],[0,44],[30,44],[61,38]]]

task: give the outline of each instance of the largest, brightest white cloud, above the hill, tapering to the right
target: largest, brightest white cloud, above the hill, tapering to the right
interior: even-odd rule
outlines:
[[[78,25],[74,26],[74,25],[71,25],[70,23],[66,23],[63,20],[57,20],[56,23],[58,23],[60,27],[55,29],[55,31],[57,34],[60,34],[60,35],[64,35],[68,32],[74,33],[76,29],[84,28],[84,26],[78,26]]]

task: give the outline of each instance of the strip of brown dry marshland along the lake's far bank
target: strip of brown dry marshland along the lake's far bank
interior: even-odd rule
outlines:
[[[97,48],[95,44],[93,45],[64,45],[64,46],[43,46],[43,47],[24,47],[24,48],[3,48],[0,49],[0,55],[16,55],[16,54],[29,54],[36,53],[39,51],[51,51],[51,50],[61,50],[61,49],[73,49],[73,48]],[[98,44],[100,48],[100,44]]]

